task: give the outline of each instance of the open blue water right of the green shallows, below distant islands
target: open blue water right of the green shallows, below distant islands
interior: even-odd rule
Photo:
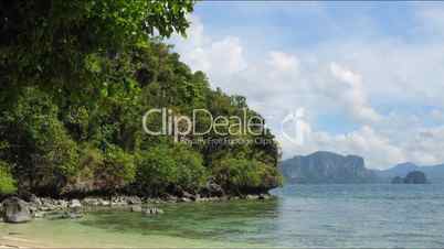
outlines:
[[[304,185],[284,196],[279,246],[443,248],[444,185]]]

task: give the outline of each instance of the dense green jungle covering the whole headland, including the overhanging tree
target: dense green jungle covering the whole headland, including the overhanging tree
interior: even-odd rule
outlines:
[[[245,99],[213,89],[163,42],[186,34],[188,0],[0,2],[0,194],[228,194],[277,186],[273,134],[149,136],[142,116],[207,109],[257,116]],[[197,127],[208,127],[205,117]],[[147,120],[160,129],[161,118]],[[242,129],[241,127],[239,129]]]

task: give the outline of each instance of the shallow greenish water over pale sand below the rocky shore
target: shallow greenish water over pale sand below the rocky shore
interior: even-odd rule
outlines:
[[[246,223],[272,218],[277,199],[156,205],[162,215],[126,209],[89,210],[81,219],[36,219],[0,224],[0,241],[31,247],[149,248],[261,247],[244,237],[257,228]],[[152,206],[152,205],[150,205]],[[2,245],[2,242],[0,242]],[[264,245],[262,245],[264,246]]]

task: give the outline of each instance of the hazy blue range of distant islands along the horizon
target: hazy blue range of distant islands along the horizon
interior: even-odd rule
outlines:
[[[444,164],[401,163],[388,170],[370,170],[359,155],[328,151],[287,159],[279,164],[279,171],[286,184],[444,183]]]

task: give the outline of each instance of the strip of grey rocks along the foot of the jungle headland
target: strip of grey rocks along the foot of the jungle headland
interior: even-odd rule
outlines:
[[[168,195],[163,198],[141,198],[139,196],[115,196],[113,198],[85,197],[82,199],[56,199],[31,195],[28,198],[9,197],[0,205],[0,214],[6,223],[27,223],[34,218],[81,218],[84,212],[94,208],[124,208],[146,215],[160,215],[163,210],[156,205],[167,203],[205,203],[235,199],[269,199],[269,194],[245,196],[212,196],[183,194],[181,197]]]

